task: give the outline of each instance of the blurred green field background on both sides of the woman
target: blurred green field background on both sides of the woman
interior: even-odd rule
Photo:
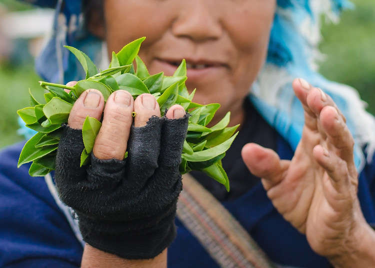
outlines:
[[[331,80],[357,88],[368,102],[367,110],[375,114],[375,1],[352,2],[356,8],[344,11],[339,24],[322,26],[320,49],[326,56],[319,63],[319,70]],[[29,8],[14,0],[0,0],[0,3],[10,11]],[[22,40],[19,42],[21,45]],[[0,148],[22,140],[16,133],[16,110],[29,104],[29,87],[39,88],[31,56],[19,52],[0,61]]]

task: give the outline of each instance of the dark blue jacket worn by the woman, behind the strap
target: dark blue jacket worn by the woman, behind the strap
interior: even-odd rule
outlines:
[[[79,267],[82,244],[57,206],[42,177],[29,165],[17,169],[23,143],[0,152],[0,266]],[[293,151],[281,138],[278,154]],[[358,197],[366,220],[375,223],[375,159],[359,175]],[[304,235],[275,210],[260,182],[234,201],[223,202],[271,260],[284,265],[329,267]],[[176,219],[177,237],[168,248],[168,267],[218,267],[197,239]]]

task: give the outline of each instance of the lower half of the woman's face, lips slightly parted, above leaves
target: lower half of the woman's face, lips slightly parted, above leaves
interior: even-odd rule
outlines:
[[[146,36],[139,51],[151,74],[172,75],[186,59],[194,101],[218,102],[217,117],[242,113],[266,56],[275,0],[104,0],[108,53]],[[233,114],[234,113],[234,114]]]

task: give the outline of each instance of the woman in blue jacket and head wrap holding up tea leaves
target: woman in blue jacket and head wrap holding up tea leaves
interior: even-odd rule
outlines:
[[[343,2],[331,4],[338,11]],[[195,101],[221,104],[213,121],[230,110],[230,124],[242,124],[223,159],[231,191],[226,194],[216,182],[198,173],[193,175],[226,206],[272,261],[303,267],[374,265],[371,249],[375,232],[368,223],[375,222],[375,123],[351,89],[328,82],[312,70],[313,53],[306,49],[316,45],[316,40],[303,36],[296,25],[308,24],[310,16],[316,19],[321,6],[313,6],[312,1],[292,4],[275,0],[104,0],[83,1],[83,6],[87,9],[87,28],[106,41],[105,52],[117,51],[123,44],[147,36],[139,55],[150,73],[165,71],[170,75],[175,63],[186,58],[186,84],[190,89],[197,88]],[[57,10],[64,15],[56,16],[54,36],[39,57],[37,68],[45,79],[68,82],[77,80],[79,74],[75,61],[61,45],[68,42],[90,55],[97,55],[100,46],[93,37],[80,35],[78,1],[58,1]],[[311,84],[291,77],[307,78]],[[248,98],[250,87],[252,95]],[[122,106],[116,106],[118,103]],[[87,114],[99,118],[102,109],[102,96],[90,89],[70,113],[56,169],[57,188],[65,203],[72,200],[65,198],[69,193],[64,195],[63,190],[75,172],[74,167],[66,167],[71,160],[66,155],[79,141],[74,137],[79,130],[74,129],[81,128]],[[93,154],[97,158],[93,159],[97,166],[108,163],[107,159],[114,158],[112,164],[121,161],[126,146],[131,147],[132,141],[126,144],[118,140],[128,138],[131,120],[124,118],[131,118],[128,115],[132,110],[137,111],[135,127],[145,125],[151,115],[159,115],[150,95],[141,95],[134,101],[126,92],[113,95],[104,110],[103,120],[108,123],[103,123],[106,126],[95,141]],[[179,106],[168,112],[167,118],[176,119],[170,122],[186,118]],[[113,124],[116,128],[111,127]],[[181,129],[183,125],[177,130]],[[11,147],[1,155],[1,203],[5,204],[1,207],[1,231],[5,237],[1,248],[6,248],[2,250],[3,266],[70,267],[81,262],[82,266],[95,267],[162,267],[167,257],[170,267],[217,265],[178,219],[177,236],[170,244],[174,235],[174,225],[170,223],[173,198],[172,209],[160,210],[157,215],[162,214],[161,221],[167,222],[167,227],[160,230],[154,231],[157,220],[153,221],[153,217],[153,225],[147,226],[147,215],[129,210],[135,215],[132,219],[140,219],[139,224],[147,233],[155,234],[149,237],[131,221],[131,226],[126,225],[130,231],[122,232],[113,242],[113,236],[101,233],[109,225],[99,226],[89,216],[78,213],[80,232],[76,235],[82,233],[88,243],[82,255],[80,243],[56,205],[59,200],[49,193],[54,192],[54,185],[46,185],[44,180],[31,183],[28,166],[16,171],[20,147]],[[178,184],[180,180],[174,181]],[[83,198],[82,202],[89,206],[89,200]],[[66,219],[71,220],[69,216]],[[114,223],[110,224],[108,228],[112,229]],[[90,233],[90,229],[95,231]]]

